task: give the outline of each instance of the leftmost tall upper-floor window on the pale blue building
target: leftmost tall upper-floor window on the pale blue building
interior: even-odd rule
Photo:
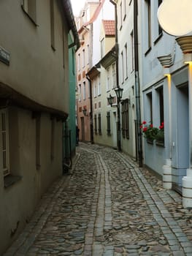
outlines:
[[[145,0],[146,4],[146,15],[145,15],[145,23],[146,23],[146,42],[147,42],[147,50],[151,47],[151,10],[150,10],[150,0]]]

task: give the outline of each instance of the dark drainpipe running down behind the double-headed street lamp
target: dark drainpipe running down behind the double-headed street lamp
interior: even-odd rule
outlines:
[[[116,52],[116,83],[117,88],[119,86],[119,62],[118,62],[118,56],[119,56],[119,45],[118,45],[118,11],[117,11],[117,3],[113,0],[110,0],[110,2],[115,6],[115,52]],[[120,99],[117,97],[117,110],[118,110],[118,151],[121,151],[121,142],[120,142]]]

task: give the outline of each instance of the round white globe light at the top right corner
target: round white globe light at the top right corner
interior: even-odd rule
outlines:
[[[192,0],[164,0],[158,8],[158,23],[167,34],[183,36],[192,31]]]

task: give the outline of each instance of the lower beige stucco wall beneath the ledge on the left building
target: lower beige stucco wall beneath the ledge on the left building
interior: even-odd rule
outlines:
[[[40,132],[40,165],[36,168],[36,121],[31,118],[31,112],[20,108],[11,108],[15,115],[15,126],[9,121],[10,140],[10,169],[13,174],[21,176],[12,186],[4,188],[4,178],[0,175],[0,252],[15,240],[26,222],[31,218],[34,208],[41,196],[53,181],[62,175],[62,123],[55,121],[54,159],[50,159],[51,120],[49,115],[41,116]],[[11,116],[12,116],[11,115]],[[1,120],[0,120],[1,125]],[[13,138],[14,137],[14,138]],[[1,140],[0,140],[1,141]],[[0,145],[1,146],[1,145]],[[15,157],[16,154],[16,157]],[[0,169],[2,157],[0,154]],[[18,228],[17,227],[18,224]],[[16,229],[16,230],[15,230]],[[15,235],[11,236],[15,230]]]

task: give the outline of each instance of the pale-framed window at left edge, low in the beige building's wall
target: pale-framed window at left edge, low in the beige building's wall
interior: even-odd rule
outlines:
[[[7,176],[9,171],[9,122],[7,110],[1,110],[1,138],[2,138],[2,159],[3,174]]]

